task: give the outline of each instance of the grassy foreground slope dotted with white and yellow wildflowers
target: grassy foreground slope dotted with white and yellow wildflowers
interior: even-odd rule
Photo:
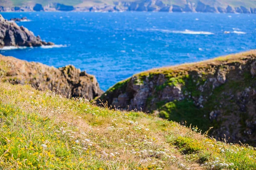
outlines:
[[[256,169],[256,148],[216,142],[197,127],[28,85],[0,82],[0,96],[3,170]]]

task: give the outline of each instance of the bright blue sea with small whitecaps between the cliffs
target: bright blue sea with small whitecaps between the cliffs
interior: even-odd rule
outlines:
[[[93,74],[107,90],[151,68],[197,62],[256,48],[256,14],[166,12],[1,13],[54,46],[12,47],[6,56],[61,67],[75,65]],[[230,34],[224,34],[229,31]]]

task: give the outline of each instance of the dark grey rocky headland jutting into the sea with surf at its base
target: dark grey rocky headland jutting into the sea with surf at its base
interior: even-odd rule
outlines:
[[[52,42],[44,42],[39,36],[35,37],[32,31],[15,22],[5,20],[0,14],[0,48],[4,46],[36,47],[41,45],[53,45]]]

